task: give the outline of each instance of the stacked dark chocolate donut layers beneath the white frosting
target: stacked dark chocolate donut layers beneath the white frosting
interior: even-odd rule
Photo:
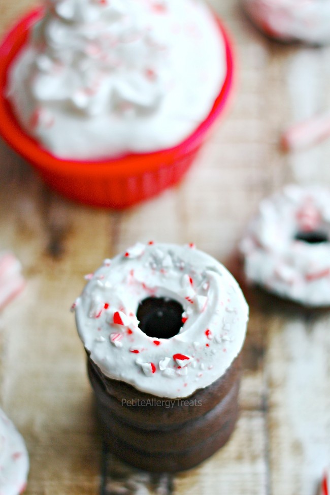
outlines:
[[[225,444],[238,417],[241,354],[221,378],[186,399],[143,393],[106,377],[90,359],[88,374],[104,438],[141,469],[192,468]]]

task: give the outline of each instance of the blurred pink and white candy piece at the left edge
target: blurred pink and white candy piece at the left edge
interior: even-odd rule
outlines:
[[[0,310],[25,286],[21,263],[10,252],[0,253]]]

